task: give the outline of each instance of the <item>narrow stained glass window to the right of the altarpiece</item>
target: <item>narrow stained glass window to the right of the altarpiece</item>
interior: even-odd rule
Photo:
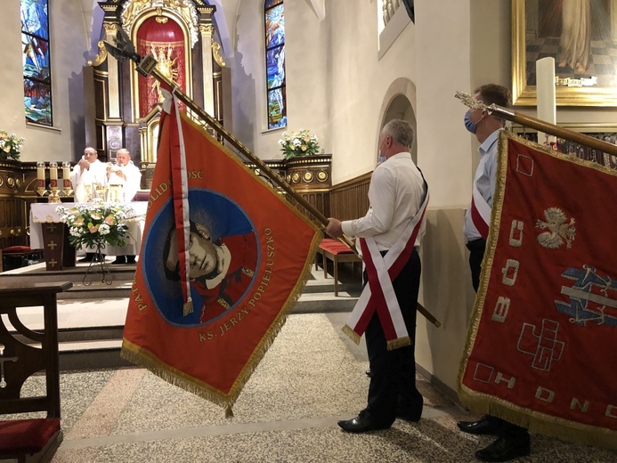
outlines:
[[[283,0],[265,0],[265,73],[268,128],[287,126],[285,102],[285,17]]]

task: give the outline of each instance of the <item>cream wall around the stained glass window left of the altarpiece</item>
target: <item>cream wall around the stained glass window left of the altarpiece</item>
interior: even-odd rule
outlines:
[[[21,160],[71,160],[84,149],[84,90],[82,67],[90,48],[85,32],[89,19],[81,0],[50,2],[53,128],[27,125],[23,110],[20,4],[3,3],[0,14],[0,128],[26,139]]]

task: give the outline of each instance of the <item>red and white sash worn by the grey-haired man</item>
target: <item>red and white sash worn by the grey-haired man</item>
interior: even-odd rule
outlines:
[[[428,185],[426,183],[425,185],[426,196],[422,206],[407,224],[394,246],[388,250],[386,256],[381,255],[373,237],[358,239],[369,282],[362,290],[358,302],[343,327],[347,336],[356,343],[360,342],[373,313],[377,310],[379,321],[386,335],[388,350],[411,344],[392,282],[409,261],[418,233],[422,228],[428,204]]]

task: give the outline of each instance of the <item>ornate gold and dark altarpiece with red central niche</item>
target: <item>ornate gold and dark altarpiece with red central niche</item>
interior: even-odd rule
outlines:
[[[113,44],[118,28],[124,28],[137,53],[155,55],[159,69],[223,124],[224,61],[212,21],[214,5],[205,0],[108,0],[99,5],[104,12],[104,40]],[[151,40],[153,34],[158,37]],[[154,83],[139,77],[133,62],[118,62],[106,53],[102,41],[99,49],[88,62],[93,67],[99,157],[109,160],[127,148],[134,163],[145,170],[142,186],[149,188],[160,114],[160,105],[151,96]],[[147,104],[144,93],[150,93]]]

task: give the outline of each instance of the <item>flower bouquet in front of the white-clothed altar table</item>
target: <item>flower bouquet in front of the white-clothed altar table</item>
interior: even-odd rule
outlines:
[[[101,252],[105,244],[126,246],[128,226],[126,219],[134,216],[128,206],[103,203],[94,199],[90,204],[77,204],[75,207],[56,207],[63,223],[69,225],[69,242],[76,249],[96,248]]]

